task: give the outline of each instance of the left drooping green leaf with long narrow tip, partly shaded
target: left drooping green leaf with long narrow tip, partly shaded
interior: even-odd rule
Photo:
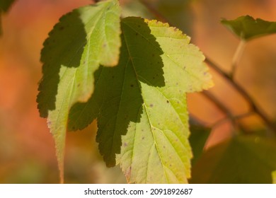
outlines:
[[[70,107],[87,101],[100,64],[115,66],[120,52],[120,7],[104,1],[77,8],[60,18],[41,52],[43,77],[38,94],[40,116],[47,117],[63,170]],[[62,171],[61,171],[62,172]]]

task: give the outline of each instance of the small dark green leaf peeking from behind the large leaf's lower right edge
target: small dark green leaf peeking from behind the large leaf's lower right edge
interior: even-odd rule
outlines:
[[[203,127],[200,124],[191,124],[190,125],[191,135],[189,137],[190,146],[192,146],[192,165],[195,165],[197,160],[202,156],[203,148],[206,144],[206,141],[209,137],[211,129]]]

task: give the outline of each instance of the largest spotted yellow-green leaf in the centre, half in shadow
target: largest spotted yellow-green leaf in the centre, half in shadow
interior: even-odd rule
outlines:
[[[205,57],[166,23],[124,18],[120,62],[100,67],[87,103],[71,108],[69,129],[98,119],[100,153],[128,182],[185,183],[192,153],[185,94],[212,86]]]

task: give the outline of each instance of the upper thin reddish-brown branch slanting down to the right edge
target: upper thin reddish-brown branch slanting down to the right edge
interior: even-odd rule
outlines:
[[[233,86],[238,93],[240,93],[243,98],[247,101],[247,103],[250,105],[251,110],[255,112],[262,120],[265,122],[267,127],[274,133],[276,133],[276,125],[270,121],[268,118],[268,115],[265,115],[265,112],[258,107],[258,105],[255,104],[253,98],[246,92],[244,88],[242,88],[236,81],[234,81],[229,74],[226,74],[222,69],[217,66],[217,64],[214,64],[209,58],[205,59],[205,62],[212,67],[219,75],[221,75],[226,81],[228,81],[231,86]]]

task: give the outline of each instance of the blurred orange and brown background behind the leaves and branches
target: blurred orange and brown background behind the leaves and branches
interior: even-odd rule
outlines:
[[[1,0],[3,1],[3,0]],[[40,50],[59,18],[88,0],[17,0],[2,16],[0,38],[0,183],[58,183],[54,141],[46,120],[40,118],[36,95],[42,77]],[[120,1],[123,16],[154,18],[136,0]],[[275,0],[151,0],[146,4],[162,18],[192,37],[192,43],[224,71],[230,71],[238,38],[220,23],[221,18],[242,15],[276,21]],[[238,64],[236,81],[250,93],[271,120],[276,120],[276,35],[248,42]],[[215,86],[210,91],[233,115],[248,105],[226,81],[212,71]],[[212,127],[225,117],[204,95],[188,95],[191,115]],[[262,129],[252,115],[241,120],[248,129]],[[231,122],[212,129],[207,147],[233,134]],[[65,158],[67,183],[123,183],[120,168],[106,168],[95,142],[96,122],[82,132],[69,132]]]

